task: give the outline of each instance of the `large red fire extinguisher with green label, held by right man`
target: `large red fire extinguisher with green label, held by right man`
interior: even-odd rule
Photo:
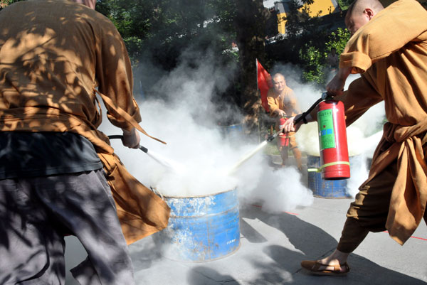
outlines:
[[[317,124],[322,178],[325,180],[349,178],[350,163],[344,104],[335,100],[320,102]]]

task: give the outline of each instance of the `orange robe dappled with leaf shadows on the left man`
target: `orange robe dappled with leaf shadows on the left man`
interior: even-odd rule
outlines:
[[[43,19],[33,18],[34,11]],[[40,0],[6,7],[0,26],[0,131],[85,136],[104,165],[127,243],[167,227],[167,204],[127,172],[97,130],[102,116],[95,87],[112,124],[143,131],[130,60],[111,21],[73,2]]]

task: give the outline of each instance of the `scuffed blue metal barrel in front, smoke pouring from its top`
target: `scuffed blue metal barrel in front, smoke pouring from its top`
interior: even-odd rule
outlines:
[[[184,262],[206,262],[240,247],[236,189],[195,197],[167,197],[169,225],[153,236],[161,254]]]

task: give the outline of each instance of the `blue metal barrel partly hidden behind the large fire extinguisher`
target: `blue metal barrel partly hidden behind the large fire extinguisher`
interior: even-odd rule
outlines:
[[[352,158],[350,157],[350,166]],[[319,168],[319,156],[307,156],[307,168]],[[320,198],[352,198],[347,193],[347,179],[323,180],[322,173],[308,173],[308,188],[313,191],[313,195]]]

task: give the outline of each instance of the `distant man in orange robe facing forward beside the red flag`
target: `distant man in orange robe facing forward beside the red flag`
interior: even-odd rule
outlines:
[[[285,77],[280,73],[275,73],[272,81],[273,88],[268,90],[267,101],[271,117],[276,118],[275,130],[279,131],[280,118],[295,116],[296,114],[300,114],[300,110],[293,90],[286,86]],[[301,170],[301,151],[298,149],[295,133],[288,133],[288,139],[288,146],[282,146],[280,144],[280,139],[278,139],[278,149],[280,151],[280,157],[282,158],[282,165],[284,166],[287,163],[288,151],[290,149],[297,161],[298,169]]]

